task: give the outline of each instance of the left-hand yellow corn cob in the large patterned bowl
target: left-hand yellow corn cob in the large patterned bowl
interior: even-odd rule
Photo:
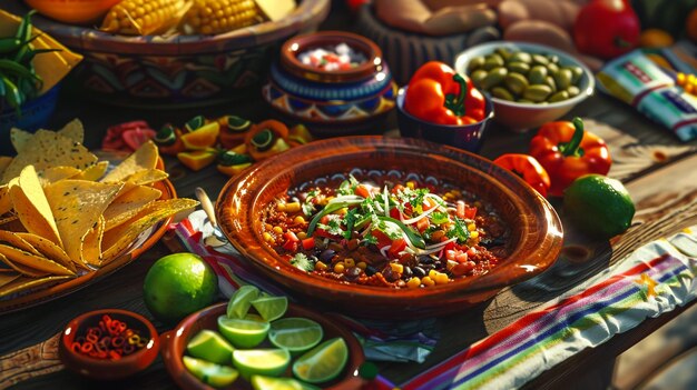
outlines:
[[[101,30],[128,36],[149,36],[176,27],[192,2],[188,0],[124,0],[114,6]]]

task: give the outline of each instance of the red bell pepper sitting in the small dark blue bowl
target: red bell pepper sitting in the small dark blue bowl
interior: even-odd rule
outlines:
[[[484,119],[484,97],[467,76],[430,61],[412,76],[404,110],[433,123],[469,124]]]

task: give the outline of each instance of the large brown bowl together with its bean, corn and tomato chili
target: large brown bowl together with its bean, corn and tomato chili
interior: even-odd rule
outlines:
[[[471,152],[344,137],[232,179],[222,230],[249,263],[303,301],[359,317],[452,313],[550,267],[553,208]]]

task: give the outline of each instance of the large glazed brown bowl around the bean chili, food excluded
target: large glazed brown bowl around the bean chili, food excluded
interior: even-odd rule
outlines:
[[[352,169],[395,170],[446,181],[491,203],[511,229],[508,256],[491,272],[422,289],[342,283],[283,261],[264,242],[264,208],[288,189]],[[542,272],[557,259],[562,228],[553,208],[518,176],[490,160],[415,139],[347,137],[312,142],[255,164],[223,189],[216,212],[235,248],[264,276],[301,299],[371,318],[413,318],[462,311],[501,288]]]

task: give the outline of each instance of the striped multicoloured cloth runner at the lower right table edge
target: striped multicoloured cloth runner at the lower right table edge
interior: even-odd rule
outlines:
[[[697,227],[641,247],[608,272],[413,378],[403,390],[512,389],[579,351],[695,299]]]

